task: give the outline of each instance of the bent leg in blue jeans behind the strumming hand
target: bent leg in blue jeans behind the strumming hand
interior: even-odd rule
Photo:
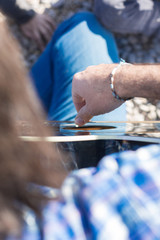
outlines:
[[[90,65],[120,61],[113,35],[89,12],[77,13],[59,25],[50,43],[33,65],[33,84],[48,120],[74,121],[72,79]],[[93,117],[93,121],[126,120],[122,104],[114,111]]]

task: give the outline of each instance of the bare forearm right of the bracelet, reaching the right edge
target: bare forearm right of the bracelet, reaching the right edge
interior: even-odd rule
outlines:
[[[160,64],[124,65],[115,74],[115,91],[122,98],[160,99]]]

